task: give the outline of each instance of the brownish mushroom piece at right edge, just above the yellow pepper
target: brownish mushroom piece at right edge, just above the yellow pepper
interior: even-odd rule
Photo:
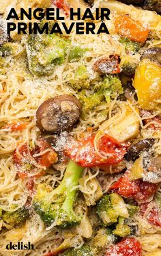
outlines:
[[[161,47],[151,47],[144,51],[141,60],[149,59],[161,66]]]

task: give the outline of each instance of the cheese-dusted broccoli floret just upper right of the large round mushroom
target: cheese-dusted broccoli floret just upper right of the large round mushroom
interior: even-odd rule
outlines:
[[[94,92],[87,95],[85,90],[78,92],[78,98],[83,104],[85,111],[92,110],[94,107],[101,105],[102,102],[110,102],[117,95],[123,93],[121,81],[116,75],[108,75],[103,81],[98,81],[94,86]]]

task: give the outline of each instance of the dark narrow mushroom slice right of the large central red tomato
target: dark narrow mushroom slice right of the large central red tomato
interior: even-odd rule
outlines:
[[[155,140],[152,138],[147,138],[144,140],[140,140],[136,144],[130,146],[128,152],[125,155],[125,159],[128,161],[134,161],[137,159],[143,151],[149,151],[149,149],[153,146]]]

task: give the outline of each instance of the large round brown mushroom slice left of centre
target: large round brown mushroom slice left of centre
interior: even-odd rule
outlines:
[[[36,123],[41,131],[66,131],[76,123],[80,114],[80,101],[71,95],[61,95],[40,105],[36,112]]]

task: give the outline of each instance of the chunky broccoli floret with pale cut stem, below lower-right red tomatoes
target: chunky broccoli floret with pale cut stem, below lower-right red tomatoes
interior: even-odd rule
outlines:
[[[97,204],[97,214],[105,226],[113,225],[119,216],[129,217],[127,205],[117,193],[102,196]]]

